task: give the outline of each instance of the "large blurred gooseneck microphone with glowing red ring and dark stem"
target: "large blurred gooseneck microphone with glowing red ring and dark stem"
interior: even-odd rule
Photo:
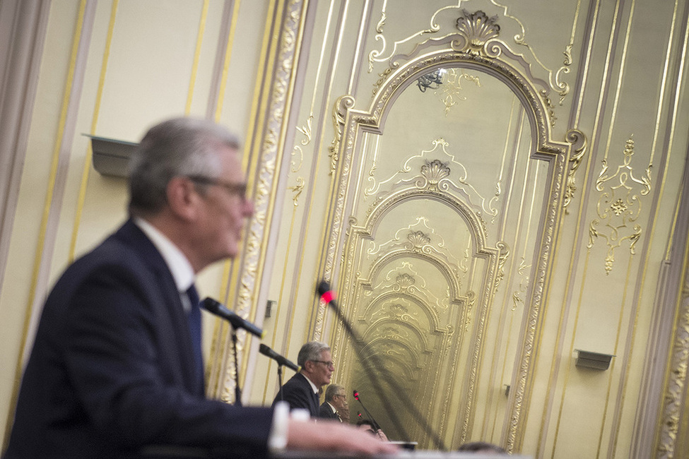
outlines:
[[[413,418],[420,424],[420,426],[423,428],[423,430],[430,436],[432,441],[435,443],[435,446],[440,449],[441,451],[446,451],[444,443],[442,439],[440,439],[440,436],[437,434],[437,432],[430,427],[430,424],[428,424],[428,421],[425,419],[425,417],[421,414],[421,412],[418,410],[418,408],[413,404],[413,401],[409,398],[407,395],[406,391],[404,391],[404,388],[402,388],[399,383],[397,383],[396,379],[389,373],[387,368],[380,362],[380,359],[378,358],[377,354],[374,353],[369,353],[369,354],[364,354],[364,342],[363,340],[359,337],[359,335],[355,332],[354,328],[352,327],[351,323],[347,320],[347,318],[344,316],[342,313],[342,310],[339,308],[339,306],[335,302],[335,294],[330,290],[330,284],[326,281],[322,281],[319,283],[317,287],[317,292],[320,295],[321,299],[328,304],[329,306],[332,307],[332,309],[335,311],[335,314],[337,315],[338,319],[342,323],[342,326],[345,328],[347,334],[351,338],[353,345],[354,345],[354,350],[357,353],[357,356],[359,357],[360,362],[363,364],[363,369],[366,373],[366,376],[368,377],[369,381],[371,381],[372,385],[375,388],[375,391],[379,393],[380,398],[382,399],[384,406],[387,408],[387,413],[391,419],[391,421],[395,424],[395,427],[404,435],[408,438],[408,434],[406,433],[406,430],[402,426],[401,422],[399,421],[399,417],[397,416],[396,412],[394,410],[391,410],[390,407],[393,406],[393,404],[390,402],[387,393],[382,389],[380,386],[380,381],[377,378],[377,375],[374,372],[374,369],[379,371],[380,376],[384,379],[384,381],[392,388],[392,390],[395,393],[396,397],[401,398],[402,406],[406,407],[406,409],[411,413]],[[355,396],[356,398],[356,396]],[[396,405],[399,405],[399,403],[396,403]],[[361,405],[363,406],[363,405]],[[366,408],[364,407],[364,410]],[[372,419],[371,419],[372,420]]]

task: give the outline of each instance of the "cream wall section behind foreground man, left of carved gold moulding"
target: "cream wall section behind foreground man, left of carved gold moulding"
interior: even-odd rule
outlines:
[[[126,218],[125,181],[95,172],[83,134],[139,141],[155,121],[210,112],[247,136],[268,8],[218,0],[52,2],[0,292],[3,432],[22,343],[31,340],[49,285]],[[216,56],[230,37],[230,52]],[[218,81],[222,97],[212,100]],[[223,266],[208,268],[201,293],[217,297],[223,273]],[[208,350],[214,322],[204,320]]]

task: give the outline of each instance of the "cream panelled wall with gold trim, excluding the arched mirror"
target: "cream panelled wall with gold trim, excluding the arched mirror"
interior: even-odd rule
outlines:
[[[688,150],[688,77],[679,59],[686,49],[688,3],[504,3],[53,1],[1,280],[3,431],[16,395],[23,342],[30,342],[49,285],[73,256],[126,216],[124,181],[93,170],[83,133],[138,141],[159,119],[210,114],[247,138],[247,169],[267,174],[252,183],[260,212],[256,226],[247,230],[245,253],[258,253],[233,266],[206,270],[199,280],[202,294],[239,307],[264,326],[262,342],[290,359],[296,360],[306,340],[334,344],[336,319],[323,314],[313,292],[327,263],[334,261],[335,285],[343,276],[338,262],[344,235],[334,255],[327,246],[331,227],[326,219],[336,208],[330,196],[337,181],[329,151],[336,137],[333,108],[338,97],[348,94],[355,96],[355,108],[367,108],[394,42],[427,30],[433,13],[447,7],[443,11],[456,16],[461,8],[498,15],[501,39],[524,54],[535,74],[547,75],[550,69],[555,78],[555,71],[566,68],[558,76],[569,85],[563,103],[551,93],[557,117],[552,136],[565,141],[567,129],[576,128],[588,142],[574,174],[574,198],[558,222],[526,398],[519,406],[521,424],[510,444],[536,457],[647,457],[656,443],[653,434],[644,434],[644,422],[651,419],[658,427],[656,408],[666,371],[664,359],[655,365],[647,359],[667,339],[654,332],[662,307],[657,289],[664,287],[661,273],[670,259],[668,241]],[[302,6],[308,6],[307,13]],[[523,44],[514,42],[520,24]],[[376,27],[382,27],[387,44],[375,38]],[[81,49],[73,44],[79,33]],[[230,52],[218,54],[228,42]],[[565,65],[563,53],[570,44],[572,63]],[[295,46],[302,46],[300,66],[290,60]],[[370,52],[383,48],[369,72]],[[213,98],[216,82],[218,99]],[[290,105],[291,97],[282,97],[291,91]],[[652,163],[650,191],[641,194],[635,185],[642,209],[636,224],[642,233],[634,254],[628,240],[615,249],[606,274],[603,234],[609,237],[611,230],[594,221],[601,220],[596,205],[609,185],[596,189],[596,179],[603,160],[608,175],[623,164],[629,138],[634,141],[630,166],[635,177],[646,174]],[[266,155],[278,146],[277,160]],[[589,247],[592,224],[601,235]],[[632,225],[623,231],[629,235]],[[277,309],[264,321],[266,299],[276,300]],[[209,393],[232,400],[227,330],[209,317],[205,326]],[[249,347],[243,338],[240,382],[245,401],[267,405],[277,389],[276,367],[257,355],[255,340]],[[575,349],[616,357],[607,371],[586,371],[574,366]],[[486,351],[493,354],[497,356]],[[486,357],[483,364],[490,366],[497,358]],[[285,370],[285,378],[291,374]],[[652,374],[659,374],[659,381],[647,386]],[[461,403],[463,395],[453,400]],[[469,439],[507,443],[512,403],[495,398],[493,405],[478,408]],[[355,415],[359,407],[355,400],[350,405]],[[500,410],[507,414],[502,417]],[[642,434],[648,438],[640,446]],[[448,438],[457,435],[450,432]]]

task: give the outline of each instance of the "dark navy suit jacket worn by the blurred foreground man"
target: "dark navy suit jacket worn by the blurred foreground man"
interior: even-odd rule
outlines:
[[[49,294],[6,458],[131,457],[150,444],[263,455],[272,411],[206,400],[193,362],[170,270],[130,220]]]

